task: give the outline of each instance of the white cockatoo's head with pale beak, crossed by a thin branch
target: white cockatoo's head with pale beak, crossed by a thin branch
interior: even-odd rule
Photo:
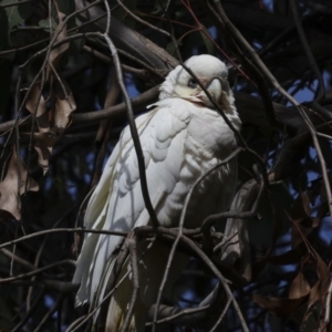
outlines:
[[[189,58],[185,64],[206,87],[216,104],[225,112],[234,111],[234,97],[227,81],[228,70],[224,62],[215,56],[203,54]],[[159,100],[167,97],[179,97],[215,108],[196,79],[181,65],[175,68],[160,85]]]

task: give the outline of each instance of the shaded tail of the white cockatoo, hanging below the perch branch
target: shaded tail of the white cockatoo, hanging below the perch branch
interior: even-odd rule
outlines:
[[[165,273],[169,250],[170,248],[168,246],[158,242],[154,242],[152,248],[148,250],[146,250],[146,243],[144,243],[144,241],[139,241],[137,243],[137,257],[143,257],[137,266],[139,290],[137,290],[138,293],[135,307],[131,312],[132,318],[128,321],[128,328],[126,331],[145,331],[145,323],[148,318],[148,309],[156,301]],[[144,255],[142,255],[143,252]],[[175,256],[164,289],[164,295],[166,295],[166,298],[169,298],[172,286],[179,276],[180,271],[187,266],[188,259],[189,257],[187,255],[179,252],[177,252]],[[116,259],[112,258],[112,260],[108,262],[107,271],[103,274],[98,287],[98,293],[96,294],[98,302],[101,302],[102,298],[110,295],[112,292],[111,299],[106,300],[106,304],[108,305],[106,314],[104,314],[104,329],[101,329],[101,331],[106,332],[122,330],[124,323],[126,322],[126,317],[131,311],[129,308],[133,295],[132,267],[128,258],[122,267],[120,276],[116,278],[116,282],[110,282],[110,280],[112,280],[112,273],[116,272],[115,261]],[[111,284],[110,289],[106,288],[106,283]],[[104,319],[98,321],[103,320]]]

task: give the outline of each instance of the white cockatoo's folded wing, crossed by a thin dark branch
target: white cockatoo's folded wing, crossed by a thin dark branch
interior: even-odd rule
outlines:
[[[179,177],[184,138],[191,116],[189,105],[179,100],[158,102],[156,108],[136,120],[149,197],[157,214]],[[128,231],[148,222],[136,152],[126,127],[90,199],[85,226],[87,229]],[[105,263],[122,240],[118,236],[86,236],[73,279],[73,282],[81,282],[77,303],[93,300],[101,287]]]

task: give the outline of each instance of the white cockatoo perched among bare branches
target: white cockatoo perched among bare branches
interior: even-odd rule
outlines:
[[[218,104],[235,129],[240,129],[232,92],[227,83],[227,66],[211,55],[195,55],[185,63],[211,98]],[[218,110],[181,66],[175,68],[160,85],[159,101],[152,111],[136,118],[144,153],[151,201],[158,222],[178,226],[184,201],[195,180],[210,167],[227,158],[237,147],[236,135]],[[149,106],[149,107],[152,107]],[[212,172],[194,190],[185,218],[186,228],[197,228],[211,214],[229,208],[237,183],[237,160]],[[115,146],[86,208],[86,229],[129,231],[151,225],[145,208],[136,152],[126,127]],[[77,259],[73,282],[81,283],[76,303],[98,305],[123,237],[87,234]],[[144,247],[139,245],[137,256]],[[169,248],[154,242],[138,267],[139,297],[131,322],[131,331],[144,330],[148,308],[155,303],[165,272]],[[174,270],[185,268],[184,253],[177,253]],[[129,270],[127,262],[123,270]],[[169,271],[172,283],[179,271]],[[122,273],[124,274],[124,273]],[[122,286],[123,284],[123,286]],[[131,299],[131,277],[113,294],[105,331],[118,331]],[[167,288],[166,288],[167,289]]]

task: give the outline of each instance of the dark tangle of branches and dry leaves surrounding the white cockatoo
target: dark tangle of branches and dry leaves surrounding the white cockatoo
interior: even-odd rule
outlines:
[[[174,305],[201,312],[164,328],[329,331],[330,2],[21,2],[0,1],[0,330],[74,331],[86,317],[71,284],[77,228],[126,124],[111,40],[135,113],[172,68],[209,53],[229,66],[242,121],[236,212],[187,235],[193,260],[164,303],[168,315]]]

